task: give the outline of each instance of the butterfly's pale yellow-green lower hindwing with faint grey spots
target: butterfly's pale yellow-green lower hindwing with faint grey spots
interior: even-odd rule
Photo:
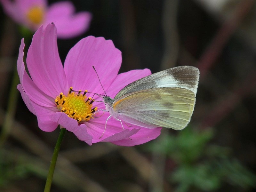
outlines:
[[[147,128],[181,130],[192,116],[196,94],[180,87],[151,88],[128,93],[113,103],[117,118]]]

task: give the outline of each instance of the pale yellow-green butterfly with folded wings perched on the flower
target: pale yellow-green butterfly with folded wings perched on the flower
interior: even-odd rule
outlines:
[[[149,129],[184,129],[194,111],[198,81],[198,68],[179,66],[126,85],[114,99],[103,96],[103,111],[110,114],[105,130],[110,117]]]

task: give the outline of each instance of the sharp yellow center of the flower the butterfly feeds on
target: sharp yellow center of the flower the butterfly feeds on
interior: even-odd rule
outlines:
[[[84,94],[81,94],[81,90],[75,93],[70,87],[68,95],[64,95],[62,92],[56,97],[55,103],[57,108],[66,113],[69,117],[76,119],[77,122],[84,122],[90,120],[92,114],[97,110],[97,107],[92,108],[92,102],[94,99],[87,98]],[[87,99],[86,99],[87,98]]]

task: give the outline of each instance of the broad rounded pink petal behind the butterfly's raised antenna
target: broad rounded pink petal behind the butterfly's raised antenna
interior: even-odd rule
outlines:
[[[111,40],[89,36],[79,41],[69,52],[64,64],[68,85],[74,90],[102,93],[101,83],[107,89],[116,78],[121,66],[121,52]]]

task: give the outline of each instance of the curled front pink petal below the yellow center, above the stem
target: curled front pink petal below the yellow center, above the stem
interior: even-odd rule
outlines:
[[[65,113],[58,112],[51,116],[51,119],[68,131],[73,132],[79,140],[92,145],[92,136],[87,133],[86,125],[79,124],[73,118],[68,117]]]

